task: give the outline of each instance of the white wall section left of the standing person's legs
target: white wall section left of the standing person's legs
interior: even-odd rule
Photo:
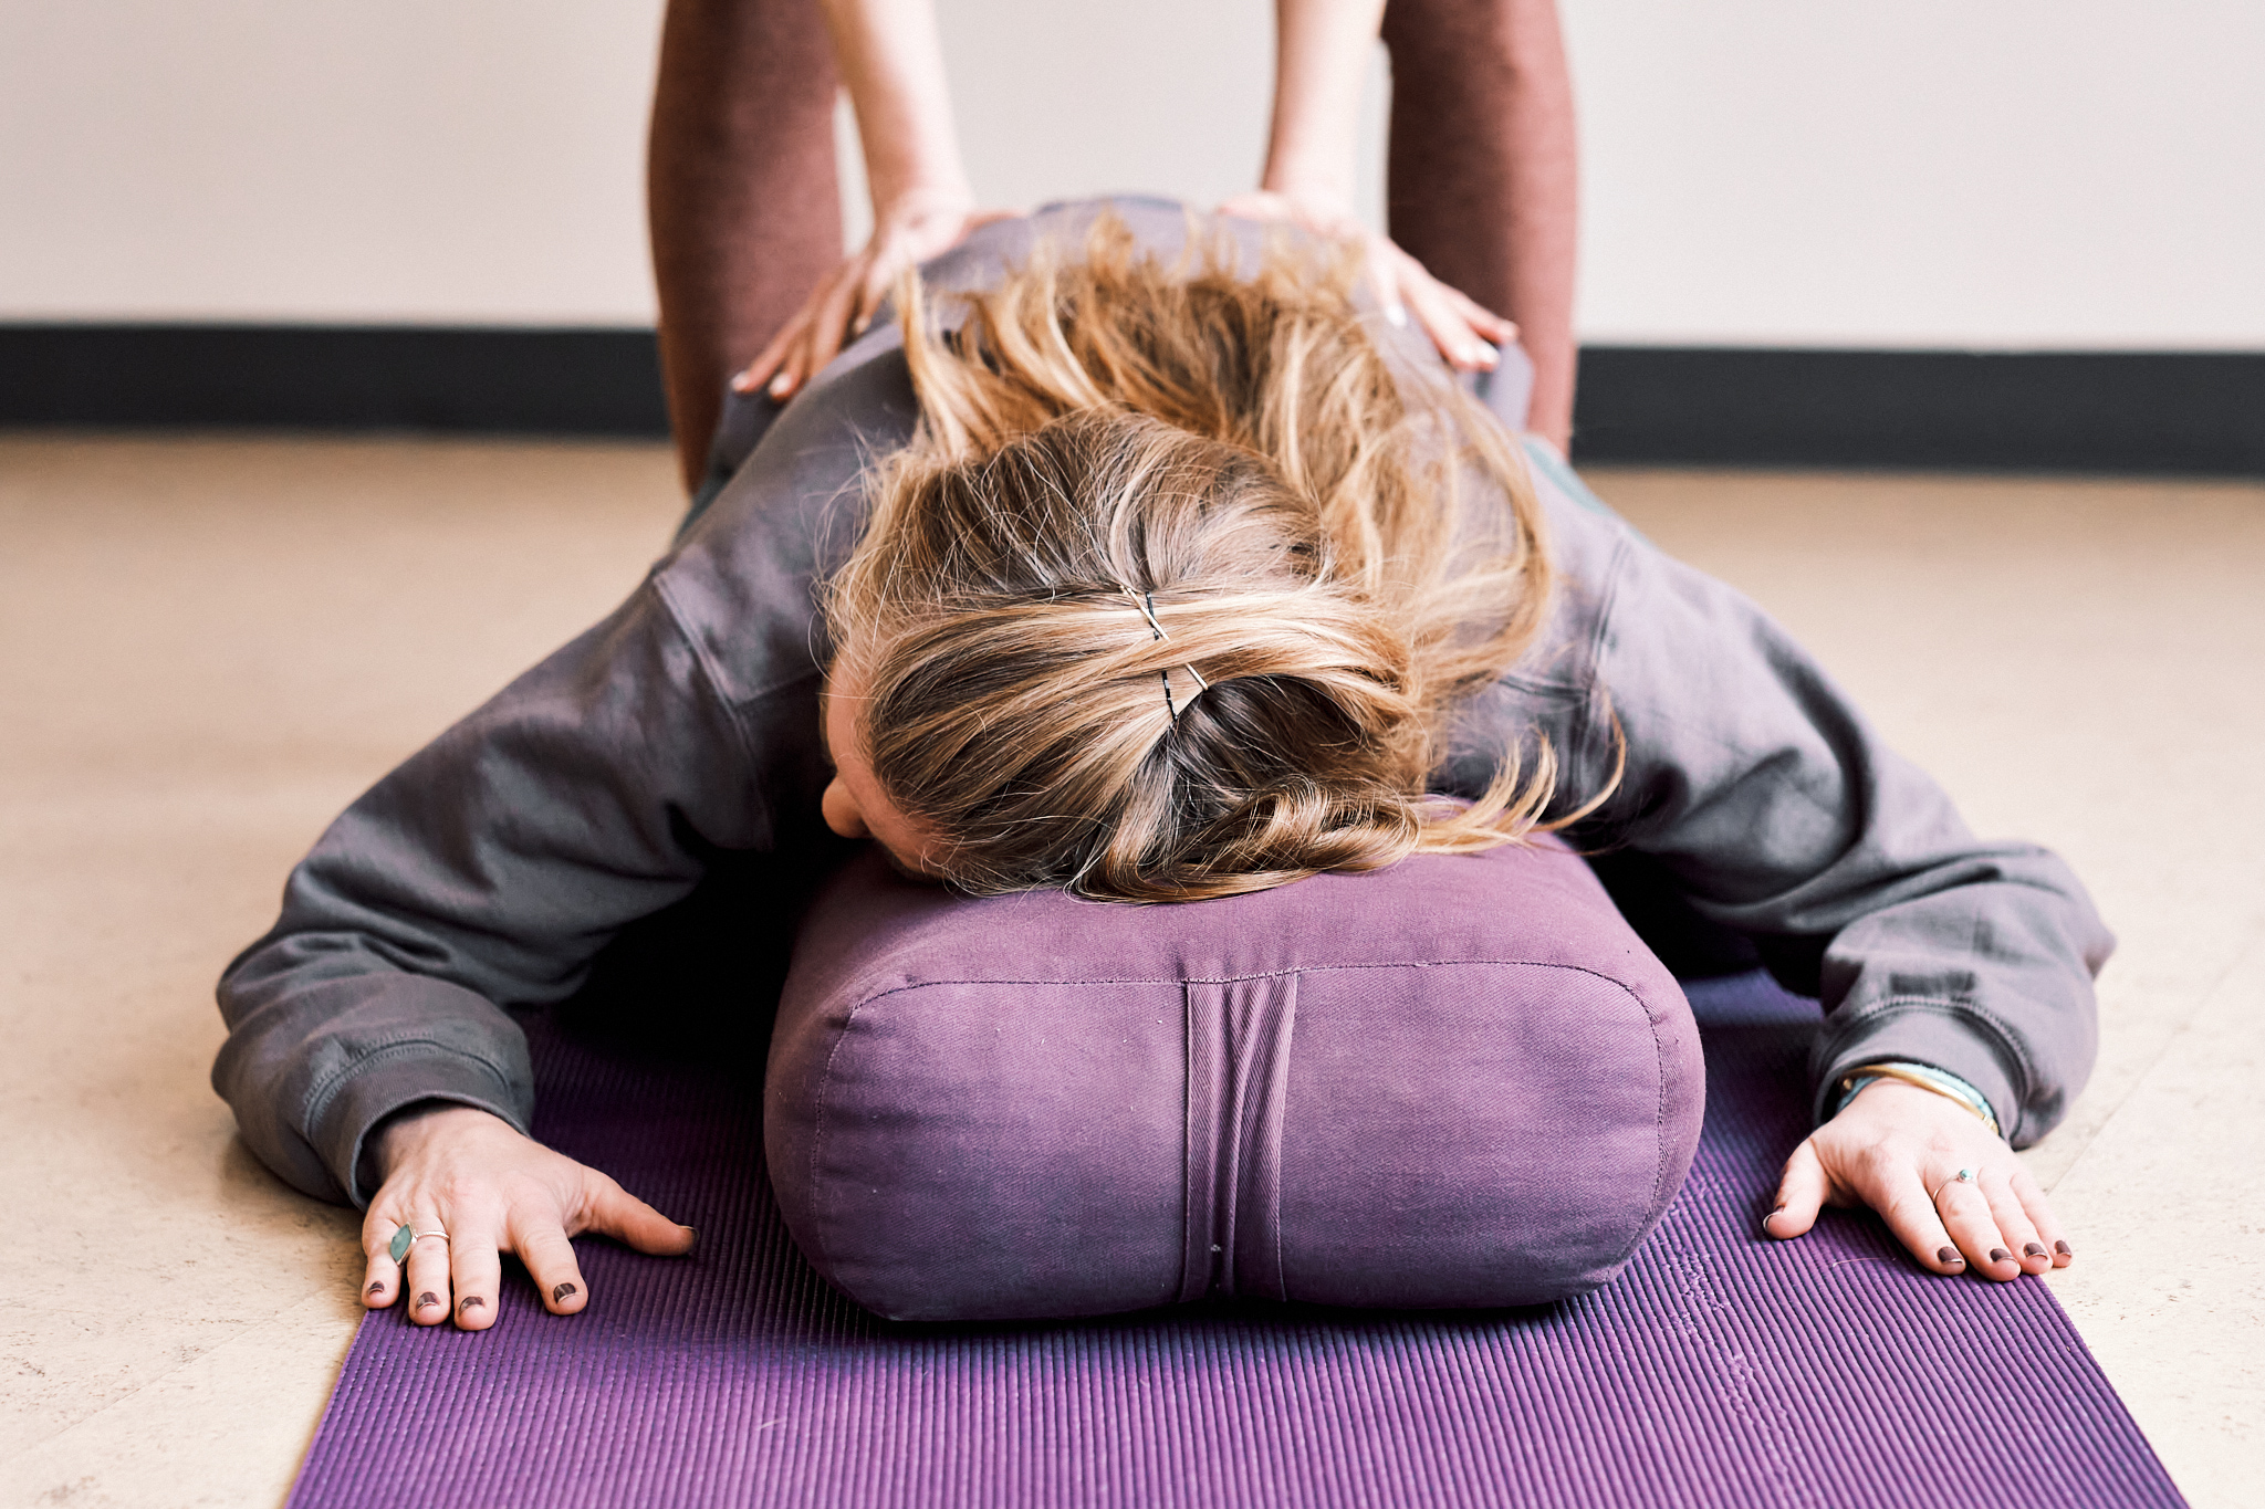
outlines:
[[[659,0],[0,7],[0,319],[652,319]]]

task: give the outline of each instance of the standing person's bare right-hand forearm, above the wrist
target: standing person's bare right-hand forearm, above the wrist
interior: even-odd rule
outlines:
[[[1361,81],[1384,0],[1275,0],[1275,102],[1262,188],[1352,208]]]

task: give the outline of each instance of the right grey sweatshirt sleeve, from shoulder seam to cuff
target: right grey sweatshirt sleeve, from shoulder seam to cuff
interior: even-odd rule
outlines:
[[[1977,839],[1753,602],[1608,532],[1581,744],[1617,719],[1613,842],[1703,916],[1817,950],[1819,1111],[1848,1068],[1905,1059],[1982,1090],[2016,1145],[2041,1138],[2091,1072],[2113,948],[2084,885],[2036,844]]]

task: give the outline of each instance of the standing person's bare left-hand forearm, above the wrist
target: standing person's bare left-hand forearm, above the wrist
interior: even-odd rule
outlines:
[[[931,0],[824,0],[824,11],[865,145],[874,215],[972,201]]]

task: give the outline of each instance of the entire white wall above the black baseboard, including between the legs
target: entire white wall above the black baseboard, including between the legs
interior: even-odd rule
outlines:
[[[2265,348],[2256,0],[1561,2],[1588,339]],[[938,7],[985,195],[1257,170],[1266,0]],[[657,25],[0,0],[0,319],[650,321]]]

